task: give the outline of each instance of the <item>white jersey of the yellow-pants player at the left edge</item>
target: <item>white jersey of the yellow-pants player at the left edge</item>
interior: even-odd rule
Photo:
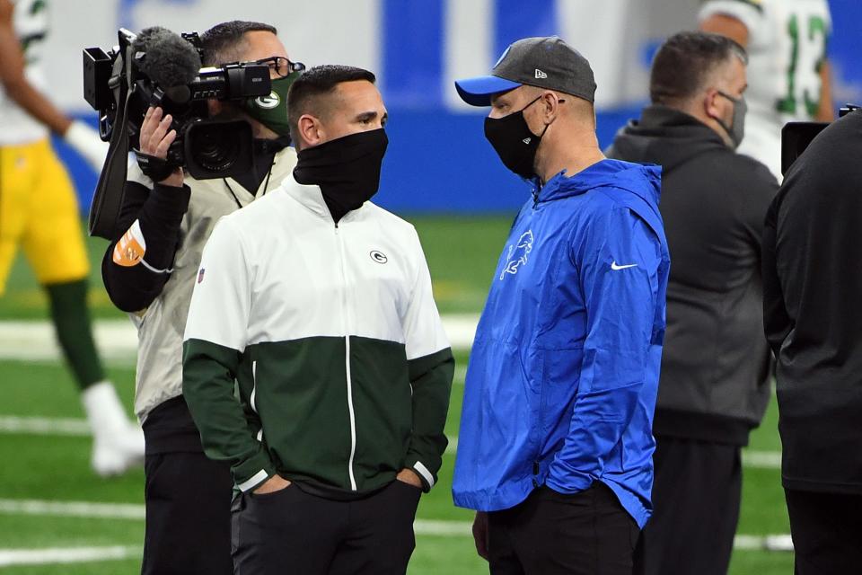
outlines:
[[[12,0],[12,25],[24,53],[24,75],[40,92],[45,92],[42,71],[43,45],[48,35],[47,0]],[[29,144],[48,137],[48,128],[34,119],[5,93],[0,84],[0,146]]]

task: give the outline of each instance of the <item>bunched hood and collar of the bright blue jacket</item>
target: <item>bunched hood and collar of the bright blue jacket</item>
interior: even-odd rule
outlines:
[[[538,182],[533,185],[537,186]],[[580,196],[605,186],[628,190],[649,204],[657,204],[662,189],[662,168],[655,164],[630,164],[605,159],[570,177],[563,170],[541,188],[533,188],[533,203],[538,206],[557,199]]]

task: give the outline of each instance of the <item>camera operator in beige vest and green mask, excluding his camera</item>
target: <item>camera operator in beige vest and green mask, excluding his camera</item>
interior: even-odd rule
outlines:
[[[111,301],[138,329],[135,411],[146,438],[143,573],[232,573],[226,464],[207,459],[181,395],[182,334],[201,252],[216,221],[274,189],[296,164],[289,147],[287,89],[303,66],[287,59],[277,31],[224,22],[201,36],[204,66],[267,63],[272,93],[242,104],[208,101],[210,116],[248,119],[255,162],[236,178],[195,180],[175,169],[154,182],[130,166],[116,229],[102,261]],[[164,159],[172,118],[150,108],[138,152]]]

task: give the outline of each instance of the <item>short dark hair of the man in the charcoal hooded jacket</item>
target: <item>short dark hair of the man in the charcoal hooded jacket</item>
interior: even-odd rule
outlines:
[[[745,49],[725,36],[680,32],[658,49],[649,78],[654,104],[681,102],[699,93],[716,66],[738,57],[748,64]]]

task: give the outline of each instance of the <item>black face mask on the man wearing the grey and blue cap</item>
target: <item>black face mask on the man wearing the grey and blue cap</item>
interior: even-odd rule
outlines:
[[[500,160],[509,170],[515,172],[524,179],[535,177],[536,152],[539,150],[541,137],[548,131],[545,129],[536,136],[527,126],[527,120],[523,118],[523,111],[538,102],[541,96],[524,106],[520,111],[515,111],[503,118],[485,119],[485,137],[497,151]],[[562,101],[560,101],[562,102]]]

